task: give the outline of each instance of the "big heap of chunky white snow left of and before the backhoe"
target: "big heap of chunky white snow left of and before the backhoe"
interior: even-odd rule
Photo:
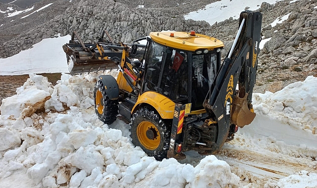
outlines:
[[[92,99],[96,78],[63,74],[52,87],[43,76],[30,75],[16,95],[2,101],[1,114],[6,113],[0,115],[4,143],[0,187],[16,187],[21,182],[32,188],[239,187],[239,177],[213,155],[195,167],[173,158],[156,161],[135,147],[129,135],[99,121]],[[28,103],[41,100],[43,92],[50,94],[45,112],[18,116],[26,100],[15,98],[23,98],[30,90],[34,99]],[[9,105],[13,101],[20,101],[15,111]]]

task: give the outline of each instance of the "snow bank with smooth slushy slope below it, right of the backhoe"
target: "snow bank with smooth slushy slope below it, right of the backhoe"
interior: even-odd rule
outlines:
[[[235,143],[243,148],[301,156],[317,165],[317,78],[307,77],[276,92],[253,94],[254,121],[239,129]]]

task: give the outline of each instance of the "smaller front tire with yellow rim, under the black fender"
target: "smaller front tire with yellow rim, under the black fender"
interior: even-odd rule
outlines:
[[[116,115],[118,114],[118,99],[109,99],[101,80],[98,80],[94,86],[93,98],[94,109],[98,118],[108,125],[116,121]]]

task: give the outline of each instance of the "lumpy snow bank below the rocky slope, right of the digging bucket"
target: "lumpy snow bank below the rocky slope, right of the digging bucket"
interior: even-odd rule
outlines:
[[[309,76],[304,82],[288,85],[275,94],[254,94],[253,105],[257,114],[270,114],[282,123],[300,127],[317,134],[317,78]]]

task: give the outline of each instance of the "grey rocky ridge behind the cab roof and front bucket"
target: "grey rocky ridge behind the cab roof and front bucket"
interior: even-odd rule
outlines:
[[[0,41],[4,48],[0,51],[0,57],[12,56],[57,33],[64,36],[77,31],[84,41],[91,42],[100,36],[102,29],[106,29],[116,41],[131,42],[148,35],[150,31],[188,31],[198,28],[206,30],[210,27],[205,21],[184,20],[182,14],[193,9],[183,11],[185,6],[178,6],[181,2],[174,2],[173,6],[178,8],[176,11],[172,6],[164,8],[160,3],[153,4],[148,1],[129,3],[125,0],[57,0],[49,7],[23,19],[20,17],[28,15],[31,11],[16,17],[2,17],[5,24],[1,26],[3,32],[0,34]],[[34,10],[51,2],[52,0],[42,0],[35,4]],[[138,8],[138,4],[150,6]],[[3,6],[2,4],[1,10],[5,9]],[[4,16],[6,14],[2,13]]]

